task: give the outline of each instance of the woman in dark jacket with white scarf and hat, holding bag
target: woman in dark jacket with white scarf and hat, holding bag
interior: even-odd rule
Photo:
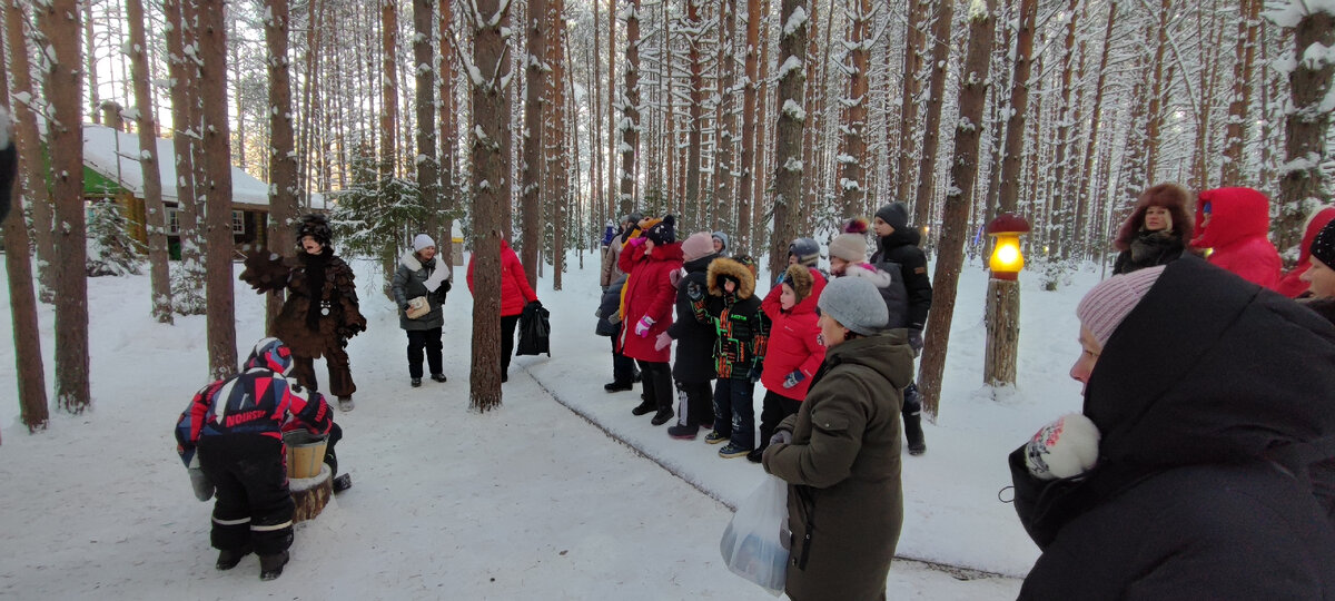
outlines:
[[[441,331],[445,327],[445,295],[450,291],[450,266],[435,251],[435,240],[426,234],[413,239],[413,250],[403,252],[394,271],[394,300],[399,305],[399,327],[409,334],[409,378],[415,389],[422,386],[422,351],[426,351],[431,379],[445,382]],[[427,311],[409,317],[411,300],[426,299]]]

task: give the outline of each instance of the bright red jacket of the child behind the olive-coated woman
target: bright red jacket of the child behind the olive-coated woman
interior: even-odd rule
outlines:
[[[782,286],[774,286],[774,290],[780,288]],[[766,294],[761,302],[761,310],[772,322],[769,343],[765,347],[765,370],[760,375],[760,383],[765,390],[794,401],[806,399],[812,377],[825,361],[825,346],[816,341],[821,334],[821,327],[816,323],[820,319],[816,317],[816,302],[824,290],[825,276],[812,270],[812,294],[794,305],[790,311],[782,310],[778,294]],[[797,386],[785,389],[784,379],[793,371],[801,371],[806,378]]]

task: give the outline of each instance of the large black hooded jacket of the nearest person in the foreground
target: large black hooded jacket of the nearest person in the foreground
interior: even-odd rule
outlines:
[[[1312,486],[1330,473],[1292,461],[1335,435],[1331,365],[1335,326],[1315,313],[1169,263],[1085,387],[1099,465],[1017,504],[1044,548],[1020,598],[1335,598],[1335,526]],[[1012,473],[1032,499],[1023,461]]]

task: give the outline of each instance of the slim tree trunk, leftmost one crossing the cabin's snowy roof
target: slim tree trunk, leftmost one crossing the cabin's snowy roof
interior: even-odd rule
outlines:
[[[135,127],[139,130],[139,164],[144,178],[144,230],[148,238],[152,314],[158,323],[172,323],[167,210],[163,206],[163,183],[158,167],[158,116],[152,89],[148,87],[148,44],[142,0],[125,0],[125,20],[129,21],[129,45],[125,51],[132,63]]]

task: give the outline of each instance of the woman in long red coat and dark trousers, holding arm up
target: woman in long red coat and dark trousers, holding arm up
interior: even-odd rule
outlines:
[[[672,350],[655,347],[658,335],[672,326],[673,299],[677,290],[672,274],[682,266],[681,243],[677,242],[677,219],[672,215],[639,222],[643,235],[630,238],[621,251],[621,270],[629,274],[622,287],[621,335],[618,350],[639,363],[643,402],[630,413],[653,413],[651,423],[661,426],[674,415],[672,410]]]

